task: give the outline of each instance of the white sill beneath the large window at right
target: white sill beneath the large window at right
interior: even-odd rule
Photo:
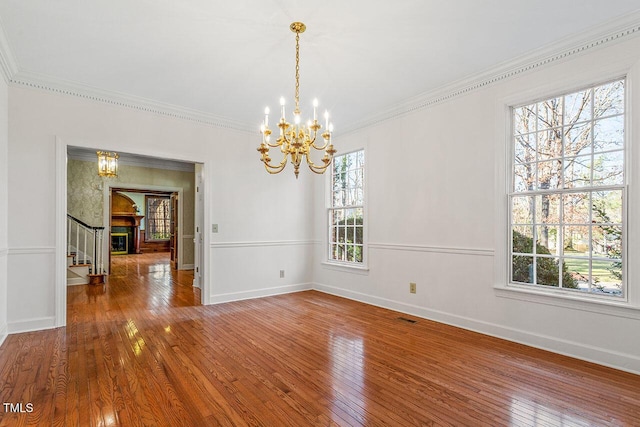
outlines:
[[[626,301],[613,301],[602,298],[587,298],[572,293],[545,292],[520,286],[494,286],[496,296],[556,307],[570,308],[592,313],[640,320],[640,306]]]

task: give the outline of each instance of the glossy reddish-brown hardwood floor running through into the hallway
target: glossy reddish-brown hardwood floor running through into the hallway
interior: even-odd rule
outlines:
[[[315,291],[201,306],[165,259],[6,339],[0,425],[640,425],[640,376]]]

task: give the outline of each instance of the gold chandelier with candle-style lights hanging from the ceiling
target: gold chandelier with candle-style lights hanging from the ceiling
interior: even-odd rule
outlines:
[[[296,91],[295,102],[296,107],[293,110],[293,124],[285,120],[284,114],[284,98],[280,98],[280,112],[281,117],[278,122],[280,128],[280,136],[275,143],[271,143],[271,130],[269,129],[269,107],[264,110],[264,123],[260,126],[260,132],[262,133],[262,143],[258,147],[258,151],[261,153],[260,160],[264,163],[264,167],[270,174],[276,174],[282,172],[287,165],[287,158],[291,158],[293,164],[293,172],[298,178],[300,169],[300,163],[302,158],[306,158],[309,169],[317,174],[324,173],[325,170],[331,164],[333,155],[336,153],[336,149],[333,148],[331,143],[331,134],[333,133],[333,125],[329,123],[329,113],[325,111],[325,131],[321,134],[324,139],[324,144],[321,146],[316,145],[316,136],[318,131],[322,128],[318,123],[317,108],[318,100],[313,100],[313,121],[309,120],[305,125],[300,124],[300,33],[304,33],[307,27],[302,22],[294,22],[289,26],[289,29],[296,33]],[[280,147],[280,152],[283,154],[282,161],[279,164],[272,164],[271,157],[269,157],[269,148]],[[322,151],[324,150],[324,156],[322,157],[322,164],[315,164],[310,157],[311,148]]]

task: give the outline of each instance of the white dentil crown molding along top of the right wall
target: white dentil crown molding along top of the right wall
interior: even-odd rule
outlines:
[[[503,62],[483,73],[404,100],[378,114],[354,123],[345,129],[343,134],[399,118],[475,90],[484,89],[511,77],[638,36],[640,36],[640,12],[635,12]]]

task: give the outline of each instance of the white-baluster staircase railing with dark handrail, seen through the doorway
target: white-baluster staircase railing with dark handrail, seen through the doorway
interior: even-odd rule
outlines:
[[[67,214],[67,255],[73,264],[88,264],[91,274],[104,274],[104,227],[94,227]]]

